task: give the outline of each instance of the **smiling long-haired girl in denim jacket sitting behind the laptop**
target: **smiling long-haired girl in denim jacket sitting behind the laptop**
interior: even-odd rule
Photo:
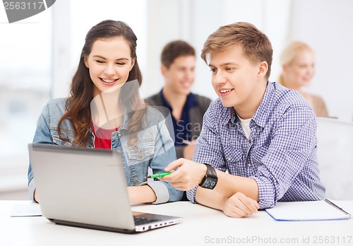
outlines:
[[[164,117],[145,107],[140,97],[136,40],[133,30],[121,21],[102,21],[92,27],[85,37],[70,96],[47,103],[33,143],[118,151],[131,202],[178,201],[182,192],[169,182],[145,178],[148,168],[163,172],[176,154]],[[28,186],[31,199],[39,201],[30,165]]]

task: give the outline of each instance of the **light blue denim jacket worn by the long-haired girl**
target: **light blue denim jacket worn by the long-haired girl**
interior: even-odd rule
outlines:
[[[59,98],[50,100],[44,107],[37,122],[37,130],[33,143],[56,144],[59,146],[71,146],[75,136],[75,130],[70,119],[65,119],[61,124],[61,134],[67,137],[66,141],[61,139],[57,125],[59,119],[66,111],[66,99]],[[136,143],[131,146],[128,141],[131,136],[127,134],[129,115],[124,115],[123,124],[118,131],[112,134],[112,150],[121,153],[128,186],[148,185],[155,192],[157,197],[153,204],[160,204],[167,201],[179,201],[182,191],[175,189],[169,182],[153,180],[147,182],[148,167],[153,173],[164,172],[168,163],[176,159],[176,153],[172,138],[169,136],[162,114],[152,107],[148,107],[145,114],[143,130],[138,131],[134,138]],[[88,148],[95,147],[95,136],[90,131]],[[63,182],[64,179],[63,179]],[[32,175],[32,168],[28,168],[28,192],[30,198],[34,198],[36,185]]]

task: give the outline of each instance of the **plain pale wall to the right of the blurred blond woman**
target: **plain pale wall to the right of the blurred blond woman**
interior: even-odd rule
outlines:
[[[330,115],[353,120],[353,1],[296,0],[292,40],[316,52],[316,76],[308,91],[320,94]]]

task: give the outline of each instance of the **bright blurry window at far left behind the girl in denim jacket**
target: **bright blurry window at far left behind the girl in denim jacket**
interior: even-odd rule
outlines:
[[[4,11],[4,8],[1,9]],[[9,24],[0,13],[0,192],[23,189],[28,143],[52,83],[52,11]]]

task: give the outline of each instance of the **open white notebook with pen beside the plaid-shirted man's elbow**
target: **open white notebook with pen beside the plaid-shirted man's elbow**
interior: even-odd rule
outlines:
[[[347,211],[328,199],[278,202],[265,211],[276,221],[331,221],[351,218]]]

